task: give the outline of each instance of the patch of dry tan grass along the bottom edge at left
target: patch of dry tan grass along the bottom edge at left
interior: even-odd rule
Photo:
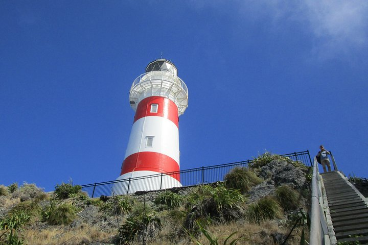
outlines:
[[[25,230],[22,232],[25,238],[25,244],[32,245],[73,245],[88,244],[91,241],[105,241],[116,235],[116,230],[109,232],[101,231],[101,228],[82,224],[76,229],[51,228],[47,230]]]

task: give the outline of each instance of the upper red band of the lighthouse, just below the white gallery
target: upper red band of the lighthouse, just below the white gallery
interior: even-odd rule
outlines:
[[[157,104],[157,112],[151,112],[151,105]],[[134,122],[145,116],[161,116],[174,122],[179,127],[178,109],[175,103],[165,97],[150,96],[143,99],[137,106]]]

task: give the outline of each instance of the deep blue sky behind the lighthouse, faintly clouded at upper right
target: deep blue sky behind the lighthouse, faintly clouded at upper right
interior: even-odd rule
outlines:
[[[319,144],[368,176],[366,1],[1,1],[0,184],[116,179],[146,65],[189,89],[180,168]]]

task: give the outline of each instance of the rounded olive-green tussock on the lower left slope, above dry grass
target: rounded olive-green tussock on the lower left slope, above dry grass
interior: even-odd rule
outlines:
[[[67,203],[52,205],[43,215],[50,225],[68,225],[76,218],[75,208]]]

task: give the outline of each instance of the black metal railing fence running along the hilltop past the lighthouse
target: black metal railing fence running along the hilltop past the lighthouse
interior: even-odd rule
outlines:
[[[300,161],[303,164],[310,166],[312,165],[312,161],[309,155],[309,151],[304,152],[294,152],[282,155],[284,157],[289,157],[293,161]],[[100,183],[93,183],[88,185],[82,185],[82,191],[88,193],[90,198],[100,197],[101,195],[113,195],[114,193],[131,193],[137,189],[137,186],[140,186],[140,190],[159,190],[168,188],[163,185],[168,181],[165,180],[168,176],[175,177],[180,176],[180,184],[181,186],[191,186],[198,184],[207,184],[214,183],[216,181],[222,181],[224,176],[228,173],[229,170],[236,166],[248,167],[248,164],[251,163],[252,160],[246,160],[241,162],[233,162],[227,164],[220,164],[214,166],[206,166],[206,167],[197,167],[187,170],[180,170],[171,173],[162,173],[156,175],[149,175],[144,177],[136,177],[129,178],[124,180],[114,180]],[[172,178],[169,178],[172,179]],[[146,186],[146,189],[142,189],[142,183]],[[123,189],[117,190],[117,186],[123,186]],[[175,185],[171,185],[175,186]]]

